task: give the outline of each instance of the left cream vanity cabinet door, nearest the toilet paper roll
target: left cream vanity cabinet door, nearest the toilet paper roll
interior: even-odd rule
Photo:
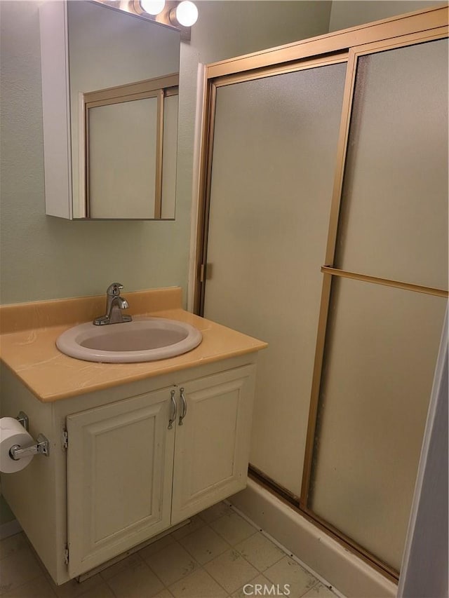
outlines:
[[[170,388],[67,417],[69,574],[170,526]]]

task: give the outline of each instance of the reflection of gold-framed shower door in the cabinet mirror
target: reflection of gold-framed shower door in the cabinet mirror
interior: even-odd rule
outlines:
[[[82,94],[86,217],[174,217],[178,82],[174,74]]]

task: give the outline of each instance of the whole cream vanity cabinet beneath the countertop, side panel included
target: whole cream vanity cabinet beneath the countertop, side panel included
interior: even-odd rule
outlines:
[[[2,492],[55,583],[246,487],[256,355],[53,403],[4,368],[2,415],[25,411],[51,451]]]

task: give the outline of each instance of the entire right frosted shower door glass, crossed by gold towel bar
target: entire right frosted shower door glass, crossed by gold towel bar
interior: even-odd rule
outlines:
[[[447,302],[447,40],[358,58],[335,269],[307,506],[398,571]]]

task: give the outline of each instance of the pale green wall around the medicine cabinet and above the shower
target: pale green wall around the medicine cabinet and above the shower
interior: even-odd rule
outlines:
[[[330,2],[201,1],[183,43],[175,222],[69,222],[44,215],[39,2],[1,1],[2,304],[187,287],[196,72],[213,62],[326,33]]]

